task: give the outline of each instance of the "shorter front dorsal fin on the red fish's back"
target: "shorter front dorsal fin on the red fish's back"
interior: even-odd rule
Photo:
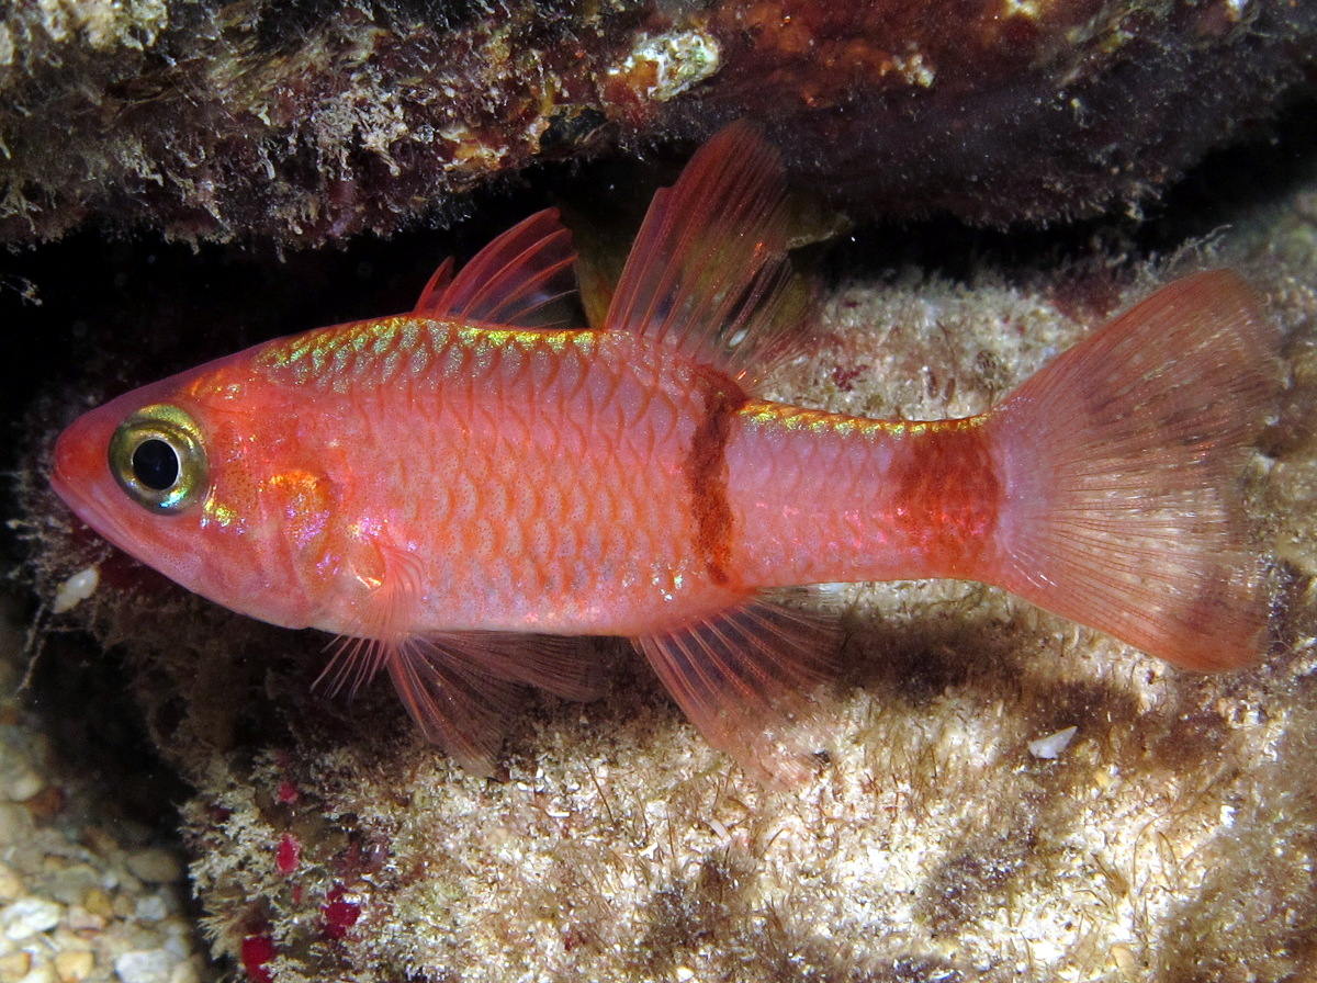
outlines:
[[[456,278],[453,261],[444,261],[414,313],[541,328],[553,321],[547,312],[554,301],[576,291],[574,266],[572,233],[547,208],[485,246]]]

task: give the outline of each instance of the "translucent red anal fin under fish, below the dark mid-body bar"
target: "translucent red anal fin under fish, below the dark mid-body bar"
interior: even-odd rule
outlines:
[[[756,597],[633,642],[714,747],[766,784],[809,776],[818,690],[836,662],[828,617]]]

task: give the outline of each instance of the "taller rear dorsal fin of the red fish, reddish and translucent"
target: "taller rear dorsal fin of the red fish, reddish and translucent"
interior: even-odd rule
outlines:
[[[676,345],[752,387],[793,354],[813,307],[786,245],[781,162],[752,125],[732,124],[655,195],[607,326]]]

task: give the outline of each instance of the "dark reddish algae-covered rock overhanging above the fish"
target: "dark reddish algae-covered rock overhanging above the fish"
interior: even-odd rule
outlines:
[[[848,211],[1047,222],[1151,200],[1314,41],[1313,0],[16,0],[0,239],[391,233],[741,116]]]

